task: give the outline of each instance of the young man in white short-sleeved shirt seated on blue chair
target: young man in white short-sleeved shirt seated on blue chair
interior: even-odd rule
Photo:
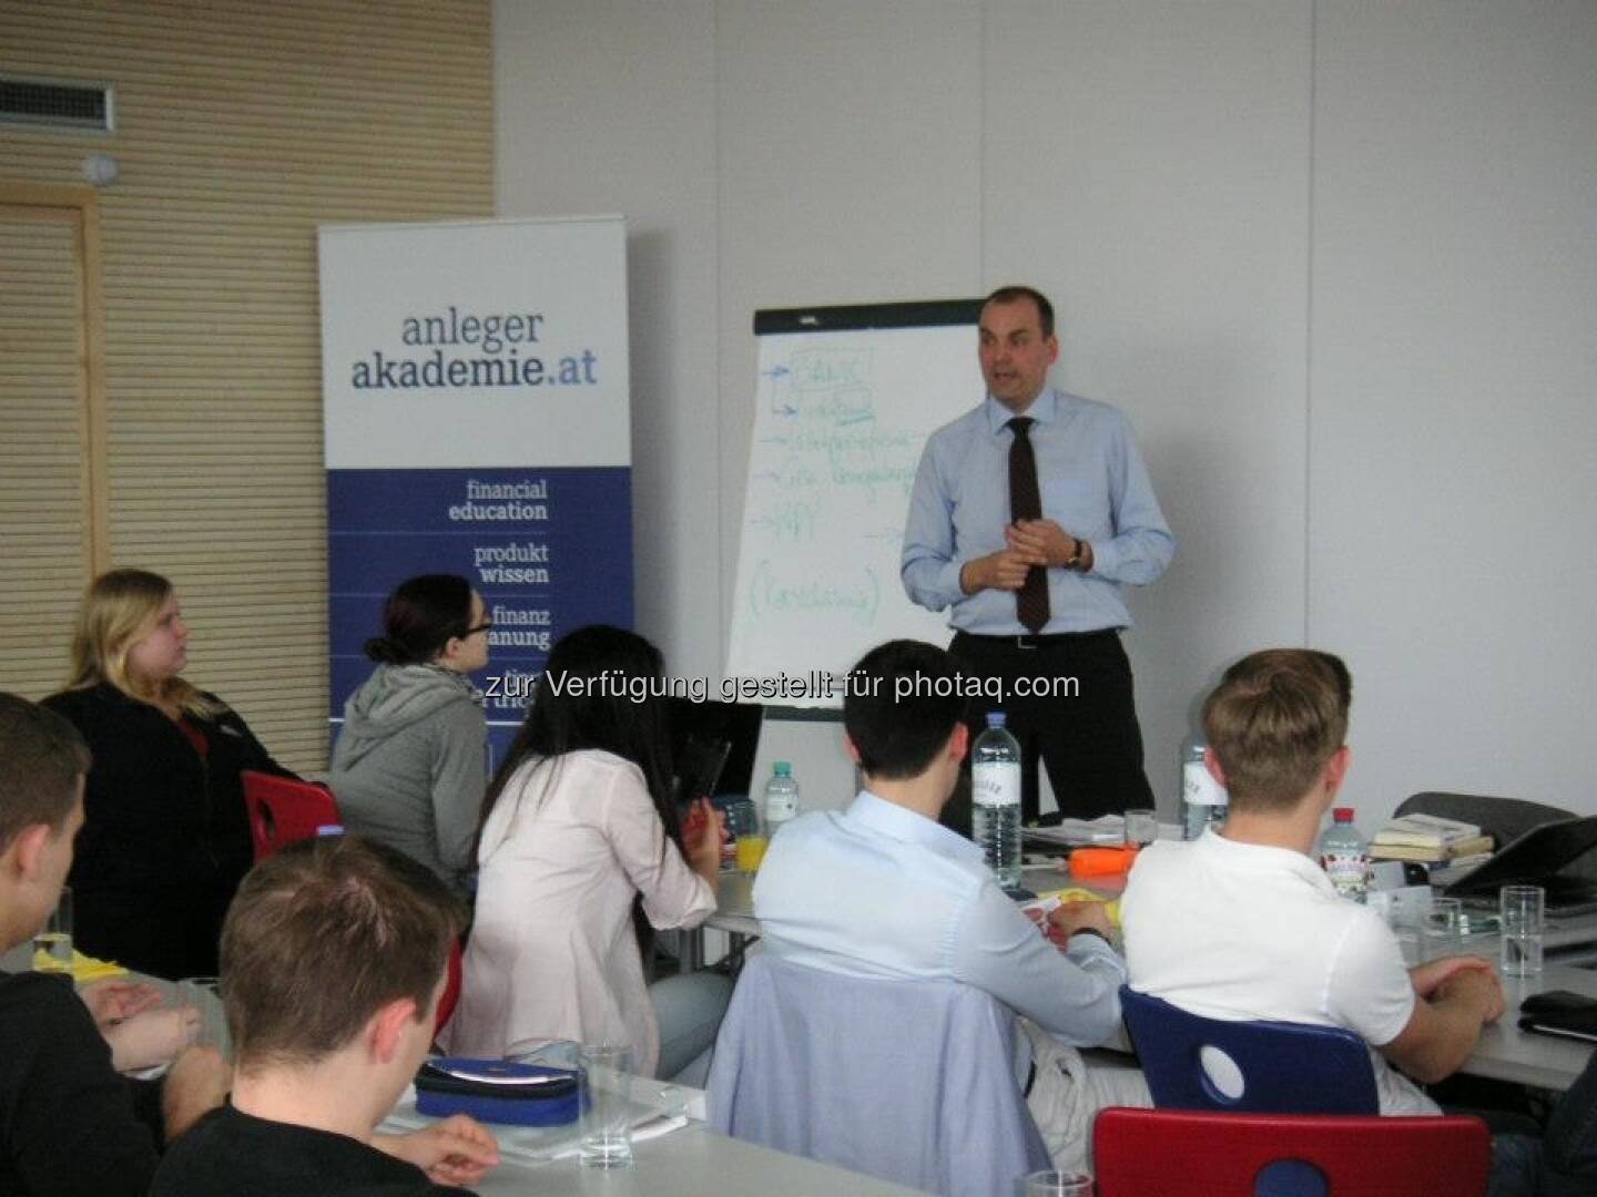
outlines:
[[[1488,961],[1415,969],[1373,910],[1340,899],[1311,852],[1348,772],[1353,681],[1330,653],[1270,650],[1204,702],[1225,830],[1158,843],[1121,902],[1131,985],[1211,1018],[1343,1026],[1372,1047],[1383,1114],[1437,1114],[1440,1080],[1503,1013]]]

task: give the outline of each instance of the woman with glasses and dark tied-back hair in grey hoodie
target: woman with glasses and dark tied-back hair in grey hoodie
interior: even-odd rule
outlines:
[[[487,757],[489,662],[482,595],[452,573],[410,578],[388,595],[377,662],[343,705],[327,784],[350,832],[394,847],[466,892]]]

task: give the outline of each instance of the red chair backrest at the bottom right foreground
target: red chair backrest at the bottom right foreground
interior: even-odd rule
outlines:
[[[1203,1192],[1206,1197],[1482,1197],[1492,1135],[1474,1117],[1099,1112],[1092,1127],[1097,1197]]]

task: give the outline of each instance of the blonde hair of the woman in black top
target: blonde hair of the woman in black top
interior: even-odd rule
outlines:
[[[72,635],[67,689],[109,681],[141,702],[164,697],[188,715],[216,715],[222,707],[182,678],[168,680],[157,693],[128,672],[129,650],[155,629],[155,618],[171,597],[172,584],[149,570],[110,570],[89,583]]]

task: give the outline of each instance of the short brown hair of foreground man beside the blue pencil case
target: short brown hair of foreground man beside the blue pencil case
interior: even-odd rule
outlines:
[[[425,865],[356,835],[256,865],[222,926],[222,1002],[241,1071],[310,1065],[390,1002],[430,1018],[458,899]]]

